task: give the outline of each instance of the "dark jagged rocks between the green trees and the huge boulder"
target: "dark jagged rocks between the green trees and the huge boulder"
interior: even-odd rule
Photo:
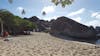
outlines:
[[[30,17],[30,18],[24,18],[24,19],[36,23],[37,28],[35,29],[35,31],[39,31],[39,32],[45,31],[50,27],[50,23],[48,21],[41,20],[36,16]]]

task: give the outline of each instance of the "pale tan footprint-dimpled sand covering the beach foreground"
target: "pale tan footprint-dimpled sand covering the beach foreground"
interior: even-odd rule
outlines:
[[[0,56],[100,56],[95,45],[55,38],[48,33],[32,33],[0,39]]]

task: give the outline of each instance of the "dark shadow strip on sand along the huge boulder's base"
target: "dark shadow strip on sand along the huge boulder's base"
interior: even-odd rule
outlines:
[[[52,36],[55,36],[57,38],[65,39],[65,40],[70,40],[70,41],[79,41],[79,42],[86,42],[90,44],[95,44],[97,39],[82,39],[82,38],[77,38],[77,37],[71,37],[71,36],[65,36],[65,35],[60,35],[60,34],[50,34]]]

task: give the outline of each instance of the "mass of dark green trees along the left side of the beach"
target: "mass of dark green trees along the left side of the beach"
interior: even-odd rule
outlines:
[[[23,31],[31,31],[37,27],[35,23],[15,16],[5,9],[0,10],[0,20],[3,22],[4,31],[8,31],[11,34],[20,34]]]

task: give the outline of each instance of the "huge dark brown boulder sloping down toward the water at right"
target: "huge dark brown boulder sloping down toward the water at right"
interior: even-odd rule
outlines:
[[[96,31],[92,26],[85,26],[64,16],[53,21],[50,33],[67,35],[74,38],[96,39]]]

